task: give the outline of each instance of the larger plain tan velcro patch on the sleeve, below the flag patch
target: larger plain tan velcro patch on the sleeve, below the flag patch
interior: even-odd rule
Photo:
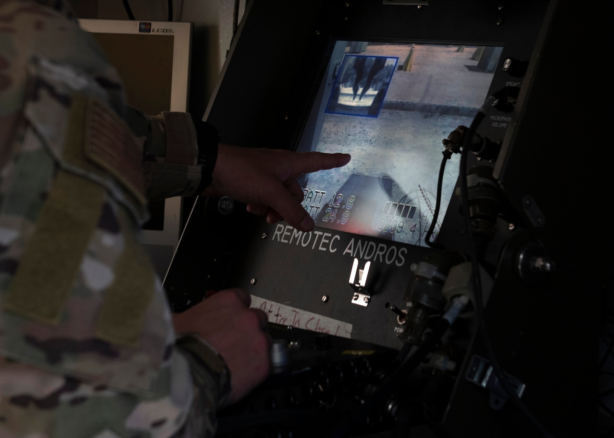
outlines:
[[[60,171],[4,301],[4,309],[57,325],[104,201],[104,188]]]

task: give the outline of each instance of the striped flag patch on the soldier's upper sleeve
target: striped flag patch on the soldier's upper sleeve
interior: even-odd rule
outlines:
[[[85,155],[146,205],[142,154],[141,142],[125,121],[106,104],[91,99],[85,120]]]

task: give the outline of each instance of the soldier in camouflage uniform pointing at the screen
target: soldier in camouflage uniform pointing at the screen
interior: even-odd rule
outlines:
[[[126,107],[62,0],[0,0],[0,437],[210,437],[266,376],[249,295],[171,315],[138,244],[147,199],[200,186],[197,153],[186,113]],[[306,231],[296,178],[348,161],[220,145],[205,194]]]

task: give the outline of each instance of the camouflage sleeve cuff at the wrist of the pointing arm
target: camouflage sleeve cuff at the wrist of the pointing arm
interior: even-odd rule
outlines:
[[[145,140],[143,174],[148,199],[190,196],[200,185],[198,145],[189,113],[149,116],[128,107],[126,121]]]

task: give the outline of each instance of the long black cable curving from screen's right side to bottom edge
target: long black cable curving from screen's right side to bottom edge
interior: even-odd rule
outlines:
[[[483,308],[483,301],[482,301],[482,284],[481,284],[482,282],[480,279],[480,269],[478,267],[478,256],[477,256],[476,249],[475,249],[475,243],[473,242],[473,233],[471,231],[472,230],[471,218],[469,216],[469,204],[468,204],[469,195],[468,195],[468,190],[467,190],[467,155],[471,148],[470,146],[471,140],[473,139],[473,136],[475,135],[475,131],[478,129],[478,126],[480,126],[480,123],[484,119],[484,117],[486,117],[486,111],[492,105],[493,101],[494,101],[494,97],[492,96],[486,99],[484,106],[481,107],[480,111],[478,111],[478,113],[475,115],[475,118],[473,118],[471,126],[469,127],[467,131],[467,136],[465,136],[465,141],[464,141],[462,153],[461,153],[461,166],[460,166],[461,167],[460,168],[461,204],[462,204],[462,213],[463,213],[463,216],[465,217],[465,226],[467,227],[467,235],[469,236],[469,247],[471,250],[471,259],[472,259],[471,265],[473,269],[472,277],[473,277],[473,287],[475,289],[476,313],[478,314],[478,322],[480,324],[480,332],[482,334],[484,347],[486,347],[486,352],[488,353],[488,358],[491,361],[492,369],[495,372],[495,375],[497,375],[497,378],[499,378],[499,382],[501,383],[501,386],[503,386],[503,389],[505,390],[505,392],[507,393],[511,401],[516,405],[518,410],[523,413],[523,415],[527,418],[527,420],[529,420],[530,423],[532,423],[532,425],[534,425],[535,428],[537,428],[542,433],[543,436],[545,436],[546,438],[554,438],[553,435],[550,432],[548,432],[548,430],[542,425],[542,423],[540,423],[539,420],[535,418],[535,416],[530,412],[530,410],[527,409],[524,403],[518,398],[518,394],[516,394],[516,391],[510,385],[510,382],[508,382],[507,377],[505,377],[505,375],[501,371],[499,362],[497,362],[497,359],[495,359],[495,355],[492,350],[491,341],[488,339],[488,332],[486,331],[486,322],[484,321],[484,308]]]

